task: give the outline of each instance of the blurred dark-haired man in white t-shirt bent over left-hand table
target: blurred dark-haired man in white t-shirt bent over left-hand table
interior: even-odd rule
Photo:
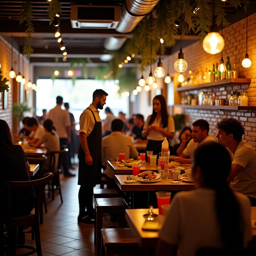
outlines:
[[[28,136],[25,136],[28,143],[37,143],[45,134],[44,127],[41,124],[38,124],[37,119],[35,119],[34,117],[26,120],[26,127],[27,130],[30,131],[30,134]]]

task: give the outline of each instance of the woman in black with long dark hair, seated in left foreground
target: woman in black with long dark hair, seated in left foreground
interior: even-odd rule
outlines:
[[[15,144],[8,124],[0,119],[0,215],[7,214],[7,181],[29,181],[30,166],[23,148]],[[12,190],[12,215],[23,216],[31,212],[35,204],[33,187]]]

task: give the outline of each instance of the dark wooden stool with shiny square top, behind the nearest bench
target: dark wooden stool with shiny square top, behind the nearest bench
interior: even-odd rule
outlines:
[[[97,245],[97,256],[101,254],[101,229],[104,213],[118,213],[119,214],[119,228],[126,226],[125,209],[127,204],[122,197],[113,198],[95,198],[94,207],[94,244]]]

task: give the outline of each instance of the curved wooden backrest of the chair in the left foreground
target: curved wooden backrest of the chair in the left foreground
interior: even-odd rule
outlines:
[[[25,188],[25,187],[34,187],[35,189],[35,215],[39,216],[39,206],[40,206],[40,201],[42,198],[42,194],[44,192],[45,186],[47,182],[52,180],[53,174],[52,173],[47,173],[45,174],[41,179],[36,179],[36,180],[30,180],[30,181],[7,181],[5,183],[5,186],[7,187],[7,192],[8,192],[8,204],[7,204],[7,216],[10,218],[12,216],[12,188]]]

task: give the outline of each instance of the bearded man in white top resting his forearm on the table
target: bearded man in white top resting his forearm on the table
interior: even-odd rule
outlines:
[[[182,164],[191,164],[194,151],[196,150],[199,144],[204,144],[209,141],[216,142],[215,138],[209,135],[208,132],[209,132],[208,122],[205,121],[204,119],[196,120],[192,124],[191,135],[193,137],[193,140],[190,140],[187,147],[183,150],[183,152],[179,156],[174,157],[174,161]]]

